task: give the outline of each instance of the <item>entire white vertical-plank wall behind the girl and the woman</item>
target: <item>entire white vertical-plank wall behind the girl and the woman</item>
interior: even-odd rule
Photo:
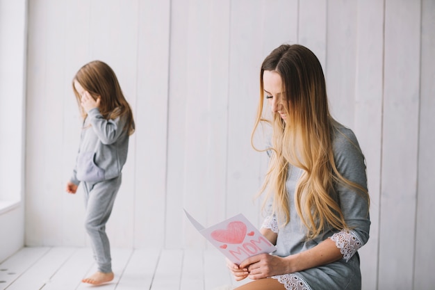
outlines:
[[[372,227],[364,289],[435,284],[433,0],[28,0],[26,245],[88,245],[83,196],[64,191],[81,120],[72,77],[105,61],[137,130],[114,247],[204,248],[183,216],[259,225],[266,157],[249,137],[259,67],[301,43],[320,59],[334,116],[366,154]]]

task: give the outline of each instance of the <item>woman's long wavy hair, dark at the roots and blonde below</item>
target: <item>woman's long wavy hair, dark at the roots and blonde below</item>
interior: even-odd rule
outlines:
[[[286,122],[279,114],[273,114],[272,120],[263,117],[265,70],[281,76]],[[286,179],[289,166],[296,166],[302,168],[303,174],[295,190],[295,208],[308,229],[307,238],[318,236],[327,225],[338,230],[347,228],[336,202],[334,184],[354,188],[367,199],[368,191],[345,179],[336,168],[332,150],[336,121],[329,114],[322,66],[311,50],[302,45],[281,45],[263,61],[251,139],[254,149],[254,133],[264,122],[272,125],[272,147],[268,148],[272,154],[260,193],[266,193],[265,200],[273,197],[272,209],[281,225],[290,221]]]

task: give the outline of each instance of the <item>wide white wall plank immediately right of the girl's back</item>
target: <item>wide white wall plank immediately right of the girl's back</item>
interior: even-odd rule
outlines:
[[[140,1],[137,150],[130,156],[136,159],[134,245],[139,248],[165,241],[169,54],[170,1]]]

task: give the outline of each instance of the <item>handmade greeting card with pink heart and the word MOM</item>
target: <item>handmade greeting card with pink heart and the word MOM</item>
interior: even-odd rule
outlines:
[[[240,264],[249,257],[263,252],[270,253],[277,249],[252,223],[249,223],[243,214],[204,228],[186,210],[184,212],[198,232],[234,264]]]

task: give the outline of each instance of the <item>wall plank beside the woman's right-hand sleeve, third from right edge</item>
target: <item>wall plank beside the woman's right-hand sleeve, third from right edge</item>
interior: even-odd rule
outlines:
[[[354,133],[366,156],[370,207],[370,239],[359,250],[363,289],[377,287],[379,200],[384,54],[384,3],[358,2]],[[370,129],[368,129],[370,128]]]

